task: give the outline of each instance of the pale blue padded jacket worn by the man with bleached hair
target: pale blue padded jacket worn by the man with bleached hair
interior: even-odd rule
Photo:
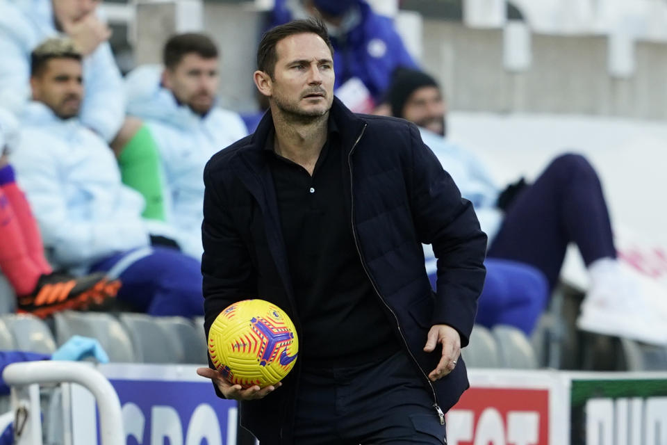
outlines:
[[[50,259],[90,266],[115,252],[149,244],[145,202],[122,184],[113,152],[76,118],[24,108],[19,145],[10,156],[42,230]]]

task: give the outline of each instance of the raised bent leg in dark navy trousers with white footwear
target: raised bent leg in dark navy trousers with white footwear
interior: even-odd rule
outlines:
[[[639,289],[639,283],[623,273],[600,178],[575,154],[554,159],[509,205],[488,256],[532,264],[553,289],[570,242],[579,248],[591,278],[579,327],[667,343],[667,326],[660,321],[667,311],[657,302],[659,296]]]

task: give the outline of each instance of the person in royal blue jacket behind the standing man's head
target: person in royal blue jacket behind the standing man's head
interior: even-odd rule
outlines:
[[[371,111],[384,101],[397,67],[416,67],[393,20],[374,13],[365,0],[276,0],[270,27],[314,15],[322,17],[334,46],[334,90],[352,111]],[[360,103],[364,92],[348,83],[354,80],[365,87],[367,106]],[[339,90],[345,83],[352,97]]]

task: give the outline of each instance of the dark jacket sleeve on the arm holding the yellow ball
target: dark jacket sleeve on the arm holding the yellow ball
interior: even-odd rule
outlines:
[[[208,330],[220,312],[233,302],[257,294],[256,275],[249,252],[234,227],[227,195],[215,186],[210,164],[211,161],[204,168],[204,223],[201,225],[206,343]],[[208,357],[208,366],[215,369],[211,357]],[[218,397],[224,397],[215,384],[213,387]]]

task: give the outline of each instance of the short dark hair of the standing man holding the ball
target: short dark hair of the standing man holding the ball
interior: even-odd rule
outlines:
[[[324,43],[327,44],[327,47],[329,47],[331,57],[334,56],[334,47],[331,46],[327,27],[324,26],[322,20],[317,18],[298,19],[276,26],[264,33],[261,42],[259,42],[259,47],[257,48],[257,69],[269,74],[273,79],[274,69],[276,67],[276,62],[278,61],[278,53],[276,51],[278,42],[284,38],[288,38],[290,35],[305,33],[319,35],[322,40],[324,40]]]

